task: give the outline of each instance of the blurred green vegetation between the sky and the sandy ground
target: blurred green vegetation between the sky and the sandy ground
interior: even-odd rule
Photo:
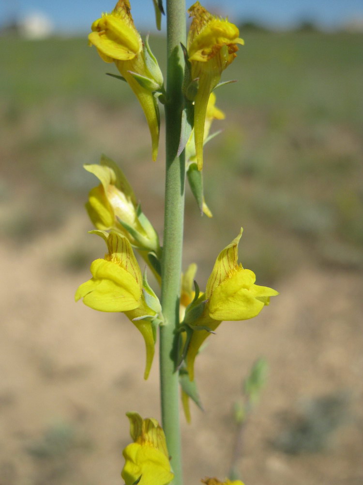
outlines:
[[[197,229],[205,245],[217,235],[215,255],[244,226],[242,260],[261,284],[307,258],[360,268],[363,35],[241,34],[245,46],[223,76],[238,82],[216,93],[227,118],[214,129],[224,132],[205,148],[206,200],[214,218],[201,220],[188,195],[186,237]],[[140,125],[142,114],[128,86],[105,76],[116,68],[103,63],[87,39],[4,37],[1,43],[0,155],[6,164],[0,200],[9,201],[14,188],[24,192],[29,184],[37,194],[26,207],[15,202],[14,215],[2,214],[2,231],[19,238],[60,224],[86,198],[95,180],[82,164],[97,162],[102,150],[123,160],[129,135],[137,131],[123,113],[135,110]],[[150,43],[165,72],[163,37]],[[110,134],[115,122],[116,140]],[[142,133],[132,151],[137,163],[123,169],[142,201],[145,191],[156,200],[161,218],[161,160],[148,160],[148,134]],[[211,264],[203,253],[201,271],[209,272]]]

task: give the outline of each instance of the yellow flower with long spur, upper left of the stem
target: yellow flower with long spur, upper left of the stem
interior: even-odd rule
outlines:
[[[91,26],[88,38],[101,58],[114,62],[138,98],[149,125],[152,159],[159,145],[159,110],[153,95],[163,85],[163,76],[148,43],[143,49],[130,11],[129,0],[119,0],[110,14],[103,14]]]

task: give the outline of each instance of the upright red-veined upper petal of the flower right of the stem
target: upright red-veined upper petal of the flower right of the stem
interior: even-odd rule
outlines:
[[[238,261],[238,243],[240,242],[242,232],[243,229],[241,227],[239,235],[219,253],[207,282],[206,299],[211,297],[215,288],[236,268]]]

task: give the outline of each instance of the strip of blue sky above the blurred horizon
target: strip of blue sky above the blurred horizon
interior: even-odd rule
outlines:
[[[187,6],[192,2],[187,2]],[[114,3],[116,0],[0,0],[0,24],[11,16],[43,12],[57,30],[87,32],[92,21],[102,11],[112,10]],[[253,19],[276,27],[312,19],[332,28],[353,18],[363,18],[363,0],[205,0],[201,3],[228,15],[234,22]],[[131,0],[131,6],[136,25],[153,30],[152,1]]]

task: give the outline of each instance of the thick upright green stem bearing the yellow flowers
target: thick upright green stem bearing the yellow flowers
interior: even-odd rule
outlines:
[[[166,185],[162,259],[161,303],[165,324],[160,327],[160,388],[163,429],[166,434],[173,485],[182,485],[179,416],[179,373],[175,329],[179,325],[181,254],[184,218],[184,153],[177,157],[181,130],[184,60],[180,43],[185,44],[184,0],[166,1],[167,83],[166,83]]]

